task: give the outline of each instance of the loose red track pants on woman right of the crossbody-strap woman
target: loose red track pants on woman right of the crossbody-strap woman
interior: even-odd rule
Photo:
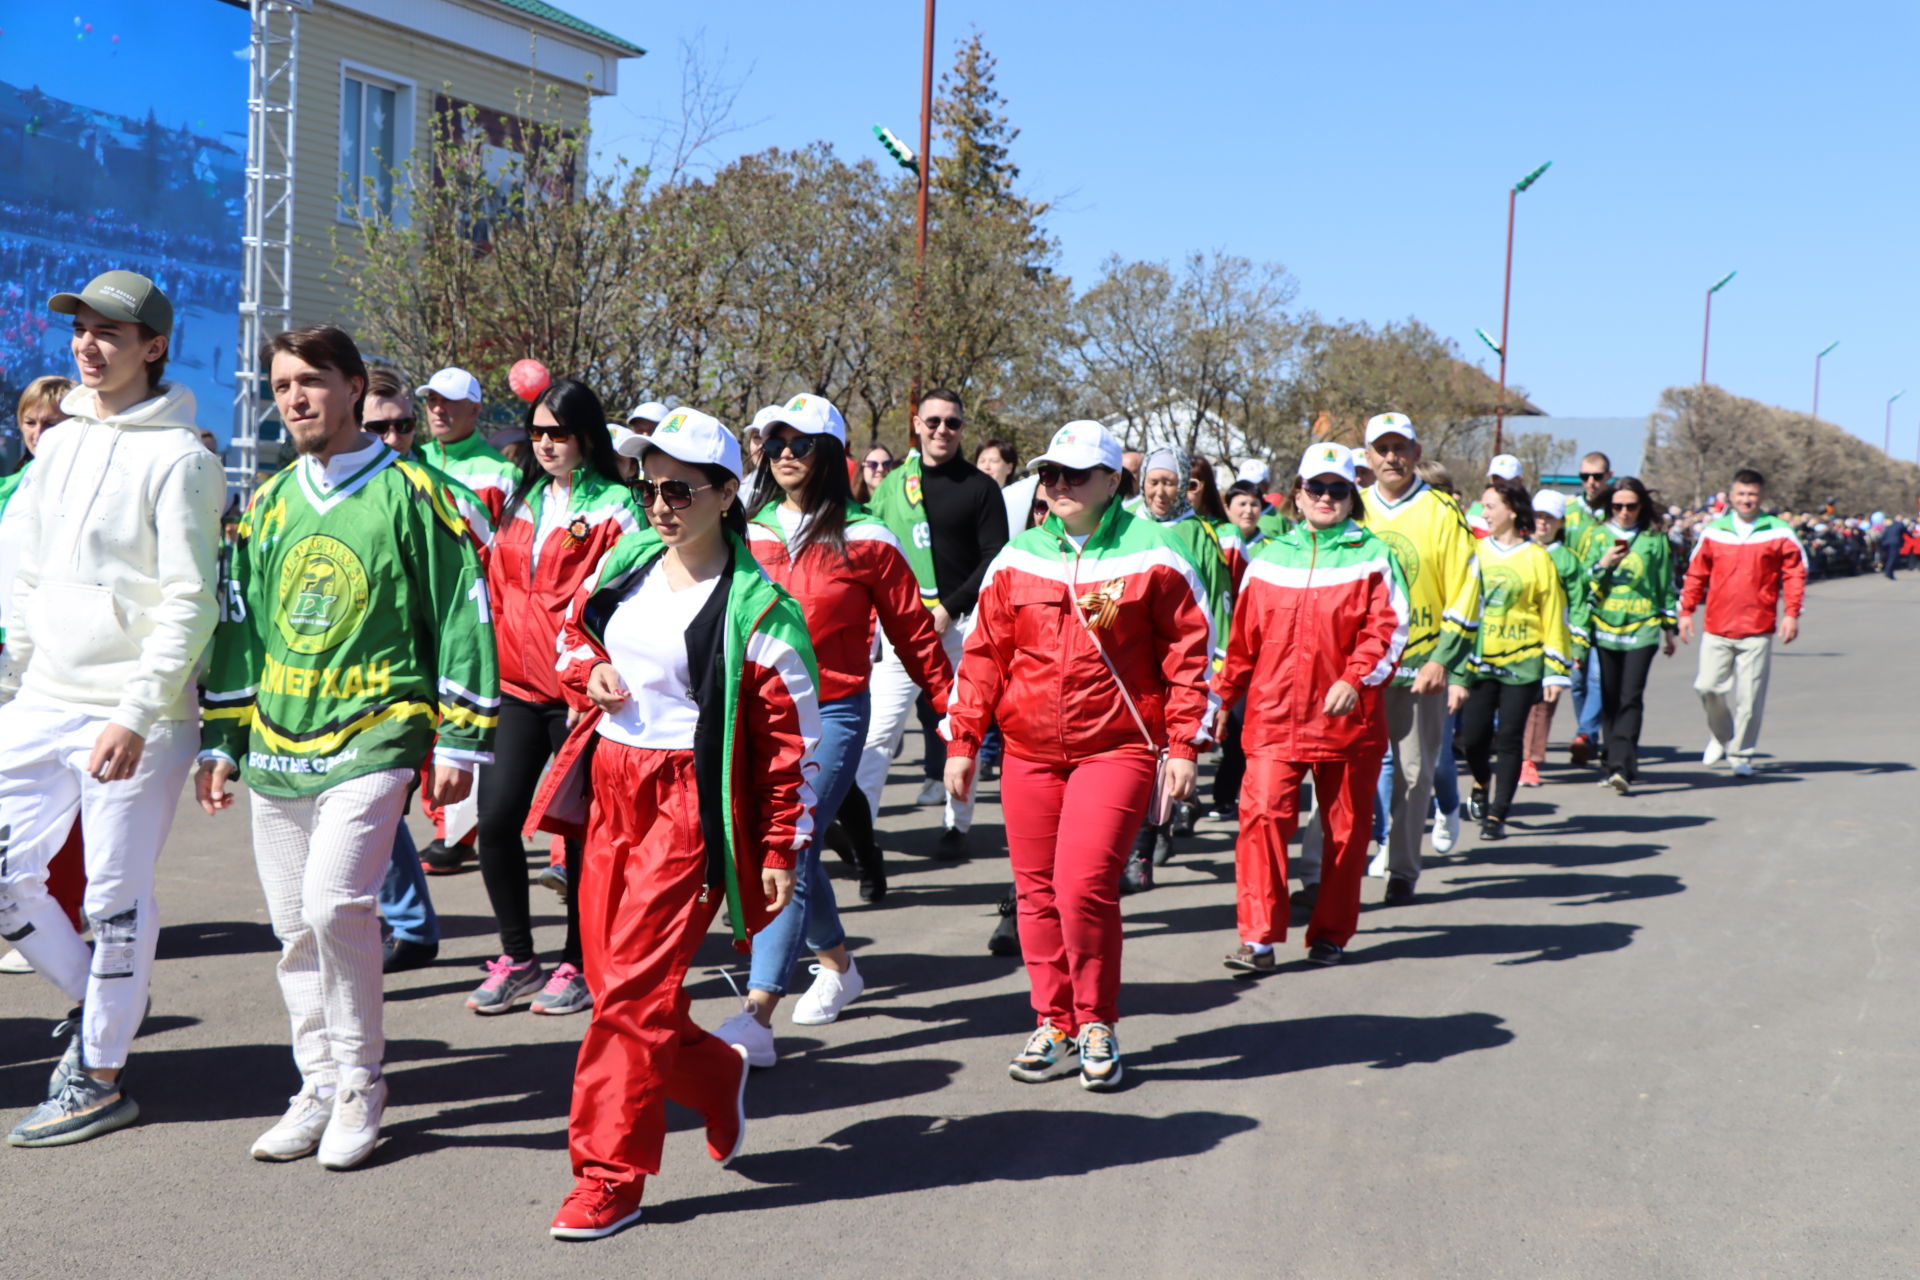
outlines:
[[[1367,875],[1373,787],[1380,779],[1380,758],[1300,762],[1256,754],[1246,758],[1240,839],[1233,844],[1242,942],[1286,940],[1286,842],[1300,827],[1300,783],[1308,771],[1313,773],[1327,831],[1308,946],[1321,938],[1346,946],[1359,929],[1359,883]]]

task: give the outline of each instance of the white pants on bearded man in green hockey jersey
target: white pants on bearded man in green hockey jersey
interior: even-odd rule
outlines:
[[[413,770],[363,773],[317,796],[253,793],[253,862],[280,938],[280,998],[307,1084],[380,1073],[380,881]]]

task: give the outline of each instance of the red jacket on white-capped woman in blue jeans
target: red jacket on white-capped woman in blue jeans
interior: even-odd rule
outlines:
[[[747,526],[747,545],[766,576],[806,610],[822,702],[851,699],[866,689],[874,674],[874,614],[879,614],[879,626],[906,664],[906,674],[933,699],[933,710],[947,714],[954,668],[933,629],[933,614],[920,603],[914,570],[887,526],[849,516],[847,555],[808,547],[795,560],[776,518],[766,516]]]

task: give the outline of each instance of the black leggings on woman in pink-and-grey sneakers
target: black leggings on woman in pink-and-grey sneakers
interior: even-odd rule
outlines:
[[[480,877],[499,921],[499,950],[515,961],[534,958],[534,913],[528,902],[526,844],[520,827],[534,806],[540,771],[566,741],[564,702],[499,699],[493,764],[480,766]],[[580,844],[566,842],[566,942],[561,960],[580,965]]]

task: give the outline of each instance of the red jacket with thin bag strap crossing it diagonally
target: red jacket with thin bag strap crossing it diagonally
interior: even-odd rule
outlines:
[[[1213,631],[1206,589],[1164,528],[1110,503],[1077,555],[1048,516],[995,557],[954,679],[950,754],[977,754],[995,716],[1008,754],[1035,764],[1148,750],[1079,608],[1154,745],[1194,758],[1208,743]]]

